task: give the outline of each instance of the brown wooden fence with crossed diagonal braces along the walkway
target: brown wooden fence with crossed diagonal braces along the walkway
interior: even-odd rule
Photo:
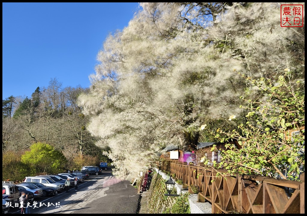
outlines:
[[[255,175],[217,177],[212,167],[165,160],[159,169],[183,181],[190,193],[199,186],[198,202],[210,202],[212,213],[305,214],[305,172],[300,182]]]

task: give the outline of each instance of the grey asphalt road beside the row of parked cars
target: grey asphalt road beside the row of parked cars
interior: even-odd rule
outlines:
[[[71,187],[51,197],[35,198],[37,205],[28,207],[31,214],[137,214],[140,194],[129,181],[121,181],[103,171],[103,175],[90,175],[78,186]],[[32,204],[32,203],[31,203]],[[20,213],[18,207],[10,207],[9,213]]]

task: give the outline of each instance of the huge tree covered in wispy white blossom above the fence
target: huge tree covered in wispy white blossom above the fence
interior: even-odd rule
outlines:
[[[200,125],[229,128],[242,116],[247,82],[291,68],[304,80],[304,33],[280,27],[278,3],[140,3],[98,53],[91,89],[79,97],[87,129],[109,146],[115,175],[131,179],[167,144],[211,141]],[[251,94],[251,98],[253,94]]]

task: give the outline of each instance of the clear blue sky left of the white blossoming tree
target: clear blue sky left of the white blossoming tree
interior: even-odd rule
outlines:
[[[62,87],[89,87],[106,37],[137,10],[137,2],[2,2],[2,99],[30,98],[53,78]]]

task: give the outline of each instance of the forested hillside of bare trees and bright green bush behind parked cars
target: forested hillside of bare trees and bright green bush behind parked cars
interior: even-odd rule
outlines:
[[[2,100],[4,179],[20,180],[26,175],[97,166],[109,160],[103,155],[107,148],[95,146],[97,138],[87,130],[89,116],[77,105],[77,97],[86,91],[63,88],[53,78],[46,88],[34,89],[29,98]]]

